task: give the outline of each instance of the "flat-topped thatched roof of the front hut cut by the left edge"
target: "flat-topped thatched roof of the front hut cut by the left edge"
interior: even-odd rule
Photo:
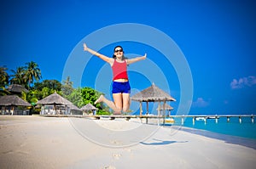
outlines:
[[[5,95],[0,97],[0,105],[3,106],[31,106],[17,95]]]

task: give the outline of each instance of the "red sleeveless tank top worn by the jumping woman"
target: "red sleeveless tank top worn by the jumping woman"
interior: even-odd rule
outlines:
[[[117,79],[128,79],[126,60],[122,63],[119,63],[118,61],[116,61],[116,59],[114,59],[113,65],[112,65],[112,71],[113,71],[113,81]]]

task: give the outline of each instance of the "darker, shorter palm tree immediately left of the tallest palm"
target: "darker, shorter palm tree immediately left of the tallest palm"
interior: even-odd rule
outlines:
[[[13,78],[10,80],[11,84],[19,84],[22,86],[26,86],[26,79],[25,76],[25,67],[17,67],[16,70],[11,70],[13,75],[11,75]]]

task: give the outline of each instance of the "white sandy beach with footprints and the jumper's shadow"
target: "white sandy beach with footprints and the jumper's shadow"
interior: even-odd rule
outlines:
[[[139,120],[3,115],[0,142],[3,169],[256,166],[256,149]]]

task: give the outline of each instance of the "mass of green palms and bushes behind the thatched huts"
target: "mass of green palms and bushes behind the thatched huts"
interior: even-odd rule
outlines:
[[[9,84],[19,84],[29,89],[28,93],[21,93],[20,98],[35,105],[38,100],[44,99],[52,93],[59,93],[64,98],[71,101],[79,108],[85,104],[94,104],[96,99],[102,94],[91,87],[73,88],[73,82],[67,76],[67,80],[58,82],[56,80],[44,80],[39,82],[42,78],[41,70],[35,62],[28,62],[26,66],[17,67],[16,70],[11,70],[12,75],[9,76],[6,67],[0,67],[0,95],[9,94],[6,86]],[[104,104],[95,105],[98,115],[109,115],[109,109]],[[32,107],[32,111],[38,111]]]

